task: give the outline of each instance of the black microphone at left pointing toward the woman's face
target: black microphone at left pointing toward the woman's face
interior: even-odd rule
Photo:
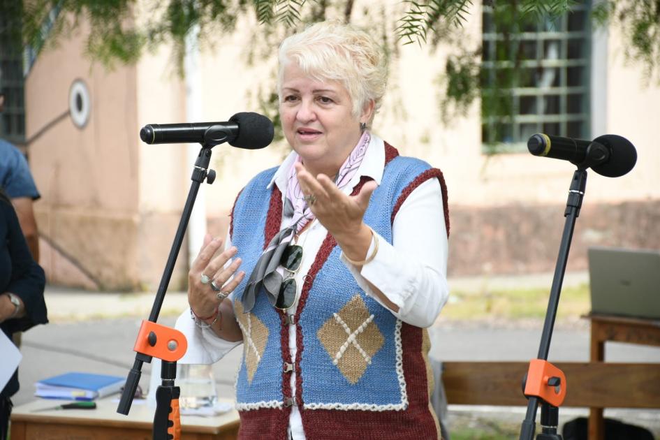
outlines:
[[[270,119],[253,112],[236,113],[228,122],[148,124],[140,130],[140,139],[147,144],[185,142],[214,147],[229,142],[232,147],[246,149],[267,147],[273,136]]]

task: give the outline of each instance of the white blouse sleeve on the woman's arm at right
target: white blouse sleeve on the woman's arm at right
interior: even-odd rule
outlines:
[[[439,181],[427,180],[406,198],[394,219],[393,244],[383,237],[378,240],[376,257],[361,271],[342,254],[344,264],[367,295],[378,300],[371,283],[399,307],[393,311],[397,318],[429,327],[449,295],[448,240]],[[367,255],[374,251],[374,243]]]

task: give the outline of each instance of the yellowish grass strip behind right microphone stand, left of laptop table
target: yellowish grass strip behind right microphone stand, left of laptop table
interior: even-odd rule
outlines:
[[[444,318],[456,320],[543,318],[548,309],[550,288],[522,288],[477,292],[452,291],[444,307]],[[562,288],[558,319],[579,318],[591,309],[589,285]]]

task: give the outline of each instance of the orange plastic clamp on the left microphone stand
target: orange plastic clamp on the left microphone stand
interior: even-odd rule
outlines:
[[[154,333],[156,344],[149,344],[149,334]],[[153,338],[152,338],[153,339]],[[169,362],[175,362],[186,354],[188,341],[182,332],[152,321],[143,320],[133,350]]]

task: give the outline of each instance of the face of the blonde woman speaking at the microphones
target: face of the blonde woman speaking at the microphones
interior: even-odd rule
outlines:
[[[332,178],[360,140],[349,92],[337,81],[309,78],[291,62],[284,68],[279,115],[286,140],[313,175]]]

